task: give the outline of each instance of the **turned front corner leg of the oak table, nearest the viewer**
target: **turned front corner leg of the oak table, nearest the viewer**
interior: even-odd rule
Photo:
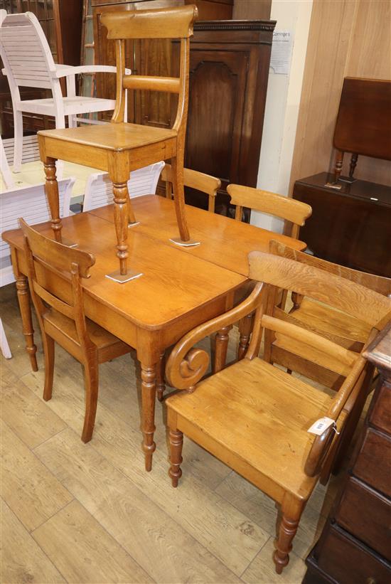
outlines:
[[[156,449],[154,442],[155,427],[155,399],[156,399],[156,363],[141,363],[141,431],[143,441],[141,444],[145,455],[145,469],[152,468],[152,455]]]

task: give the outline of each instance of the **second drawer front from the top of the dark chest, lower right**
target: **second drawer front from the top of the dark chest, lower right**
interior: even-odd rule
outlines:
[[[367,428],[353,474],[377,491],[391,497],[391,440]]]

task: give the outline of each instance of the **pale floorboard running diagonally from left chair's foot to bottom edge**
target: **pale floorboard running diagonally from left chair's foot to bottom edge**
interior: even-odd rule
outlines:
[[[154,580],[239,582],[95,448],[83,447],[72,430],[35,452]]]

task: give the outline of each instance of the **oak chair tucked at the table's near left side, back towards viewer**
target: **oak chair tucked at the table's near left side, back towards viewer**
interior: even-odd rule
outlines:
[[[132,348],[85,317],[82,278],[90,277],[95,257],[46,238],[29,227],[19,225],[25,238],[28,284],[41,328],[45,354],[43,399],[50,400],[53,389],[55,342],[80,361],[85,374],[85,419],[82,441],[92,438],[97,410],[99,365],[129,353]],[[43,269],[44,268],[44,269]],[[72,294],[64,302],[48,290],[47,272],[62,272],[72,282]]]

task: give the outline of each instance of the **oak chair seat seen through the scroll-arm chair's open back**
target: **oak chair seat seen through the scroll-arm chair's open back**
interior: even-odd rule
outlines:
[[[371,327],[366,322],[309,298],[304,298],[300,307],[291,314],[296,320],[311,325],[319,334],[323,331],[331,339],[340,337],[340,344],[346,347],[352,346],[354,341],[364,344],[370,334]],[[335,340],[338,342],[339,339]]]

